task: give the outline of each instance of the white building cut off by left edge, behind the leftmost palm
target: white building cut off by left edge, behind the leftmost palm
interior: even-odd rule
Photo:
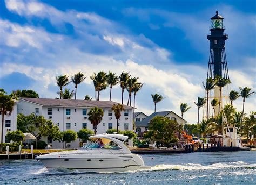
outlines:
[[[0,111],[0,138],[2,135],[2,113]],[[4,115],[4,129],[3,129],[3,143],[10,143],[10,141],[5,138],[7,132],[17,130],[17,102],[14,104],[12,112],[8,112]]]

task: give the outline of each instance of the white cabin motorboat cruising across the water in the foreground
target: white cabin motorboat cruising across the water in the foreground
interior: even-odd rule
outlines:
[[[125,172],[151,169],[145,166],[142,157],[132,154],[124,144],[128,139],[122,134],[99,134],[90,136],[91,143],[79,150],[54,152],[36,159],[49,170],[68,168],[80,172]]]

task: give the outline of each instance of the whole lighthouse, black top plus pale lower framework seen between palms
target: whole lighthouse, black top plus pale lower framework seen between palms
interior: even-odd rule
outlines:
[[[214,79],[216,76],[223,77],[224,79],[230,79],[228,75],[227,59],[225,51],[225,41],[228,39],[228,35],[224,33],[225,27],[223,24],[224,17],[219,15],[216,11],[216,15],[211,18],[210,34],[207,34],[207,39],[210,40],[210,54],[208,60],[207,79]],[[220,103],[221,108],[229,103],[228,94],[230,92],[230,86],[225,86],[222,90],[221,98],[219,98],[219,87],[215,86],[210,92],[209,107],[211,115],[217,116],[219,113],[218,106],[213,110],[211,107],[212,99],[217,99]],[[207,105],[204,105],[203,118],[207,116]]]

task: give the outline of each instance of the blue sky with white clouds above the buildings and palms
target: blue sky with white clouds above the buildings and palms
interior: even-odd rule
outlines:
[[[0,1],[0,86],[55,98],[55,76],[81,71],[87,76],[78,87],[82,99],[93,96],[93,72],[126,70],[145,83],[138,111],[150,114],[150,95],[159,93],[166,98],[157,110],[179,113],[179,103],[186,102],[192,109],[185,119],[194,123],[193,101],[204,96],[206,34],[216,10],[229,37],[231,89],[255,90],[255,7],[255,1]],[[117,102],[120,93],[113,89]],[[100,96],[107,99],[109,90]],[[255,99],[246,102],[247,113],[255,111]],[[235,102],[239,111],[241,103]]]

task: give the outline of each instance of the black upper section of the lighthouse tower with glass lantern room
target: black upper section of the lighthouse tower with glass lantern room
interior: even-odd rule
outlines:
[[[229,79],[225,52],[225,40],[227,40],[228,35],[224,33],[224,18],[219,15],[218,11],[216,11],[216,15],[211,19],[211,34],[207,35],[207,39],[210,40],[207,79],[214,79],[216,75]]]

